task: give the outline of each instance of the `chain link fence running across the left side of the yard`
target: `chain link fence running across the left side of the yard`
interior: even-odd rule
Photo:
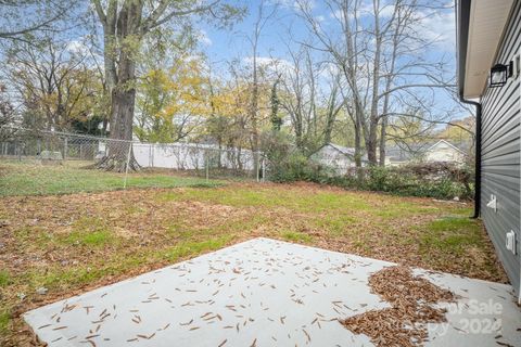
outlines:
[[[0,196],[264,181],[263,153],[0,128]]]

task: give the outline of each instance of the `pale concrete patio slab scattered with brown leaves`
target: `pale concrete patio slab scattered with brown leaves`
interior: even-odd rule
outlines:
[[[390,307],[367,284],[389,266],[255,239],[40,307],[24,319],[50,347],[372,346],[336,319]],[[448,322],[429,326],[425,346],[521,346],[521,311],[510,286],[415,273],[459,296],[443,304]]]

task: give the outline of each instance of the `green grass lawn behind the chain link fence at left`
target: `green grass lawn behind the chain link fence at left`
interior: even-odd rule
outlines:
[[[68,194],[120,190],[124,174],[106,172],[82,167],[90,162],[64,162],[63,165],[42,166],[34,160],[0,162],[0,196]],[[179,177],[166,174],[129,174],[127,188],[175,188],[215,185],[217,181],[204,178]]]

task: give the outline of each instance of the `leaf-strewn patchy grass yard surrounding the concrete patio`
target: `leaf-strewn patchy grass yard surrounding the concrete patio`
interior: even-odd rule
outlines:
[[[28,309],[257,236],[506,281],[460,203],[304,183],[0,201],[1,346],[31,343]]]

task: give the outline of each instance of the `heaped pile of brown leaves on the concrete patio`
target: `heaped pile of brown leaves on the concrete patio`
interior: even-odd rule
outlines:
[[[440,301],[453,301],[454,294],[425,279],[414,277],[407,267],[391,267],[369,278],[371,293],[392,305],[370,310],[341,323],[355,334],[366,334],[379,347],[423,346],[428,340],[428,323],[446,322]]]

